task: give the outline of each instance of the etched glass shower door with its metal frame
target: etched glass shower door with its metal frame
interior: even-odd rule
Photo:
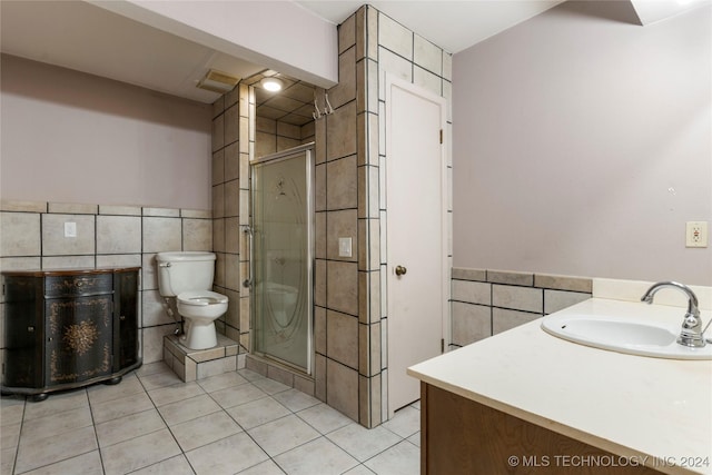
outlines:
[[[251,353],[313,374],[314,144],[253,160]]]

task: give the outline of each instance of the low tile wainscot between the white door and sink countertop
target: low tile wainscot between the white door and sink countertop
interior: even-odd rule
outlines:
[[[590,278],[453,268],[451,348],[586,300],[592,291]]]

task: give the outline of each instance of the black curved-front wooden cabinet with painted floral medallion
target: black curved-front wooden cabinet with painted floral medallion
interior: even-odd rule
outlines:
[[[6,271],[2,393],[118,383],[141,365],[138,267]]]

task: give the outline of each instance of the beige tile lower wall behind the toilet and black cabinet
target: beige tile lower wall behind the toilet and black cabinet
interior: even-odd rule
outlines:
[[[76,238],[65,237],[65,222],[77,224]],[[2,270],[141,267],[144,363],[162,359],[164,335],[176,328],[158,294],[156,253],[212,249],[206,210],[3,200],[0,228]]]

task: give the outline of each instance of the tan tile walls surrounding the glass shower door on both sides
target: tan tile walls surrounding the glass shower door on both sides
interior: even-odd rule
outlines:
[[[449,103],[452,57],[368,6],[339,26],[338,37],[339,83],[327,91],[332,115],[299,130],[255,118],[254,92],[245,85],[214,105],[214,250],[220,268],[239,263],[238,271],[226,270],[217,286],[239,295],[239,309],[228,310],[224,329],[228,337],[239,336],[243,353],[249,348],[249,295],[239,283],[247,277],[248,249],[238,225],[249,220],[249,157],[316,141],[314,382],[298,382],[276,367],[263,369],[287,384],[299,383],[374,427],[387,418],[386,261],[380,251],[387,212],[382,199],[386,105],[379,93],[387,71]],[[318,101],[323,92],[317,89]],[[448,123],[447,137],[451,129]],[[352,238],[353,257],[339,257],[339,237]]]

